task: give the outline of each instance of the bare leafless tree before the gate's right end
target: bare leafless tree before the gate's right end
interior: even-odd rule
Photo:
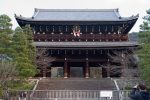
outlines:
[[[126,50],[123,52],[112,51],[111,54],[108,54],[109,59],[111,59],[110,74],[112,76],[117,74],[122,74],[123,79],[119,79],[121,88],[125,89],[126,87],[134,86],[138,81],[138,68],[137,66],[138,58],[135,56],[133,50]],[[117,64],[120,64],[117,66]],[[129,65],[130,64],[130,65]]]

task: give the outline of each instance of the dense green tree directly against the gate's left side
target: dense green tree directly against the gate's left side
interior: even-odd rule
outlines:
[[[29,26],[16,28],[13,36],[13,56],[21,77],[32,77],[37,73],[35,47],[32,45],[32,31]]]

